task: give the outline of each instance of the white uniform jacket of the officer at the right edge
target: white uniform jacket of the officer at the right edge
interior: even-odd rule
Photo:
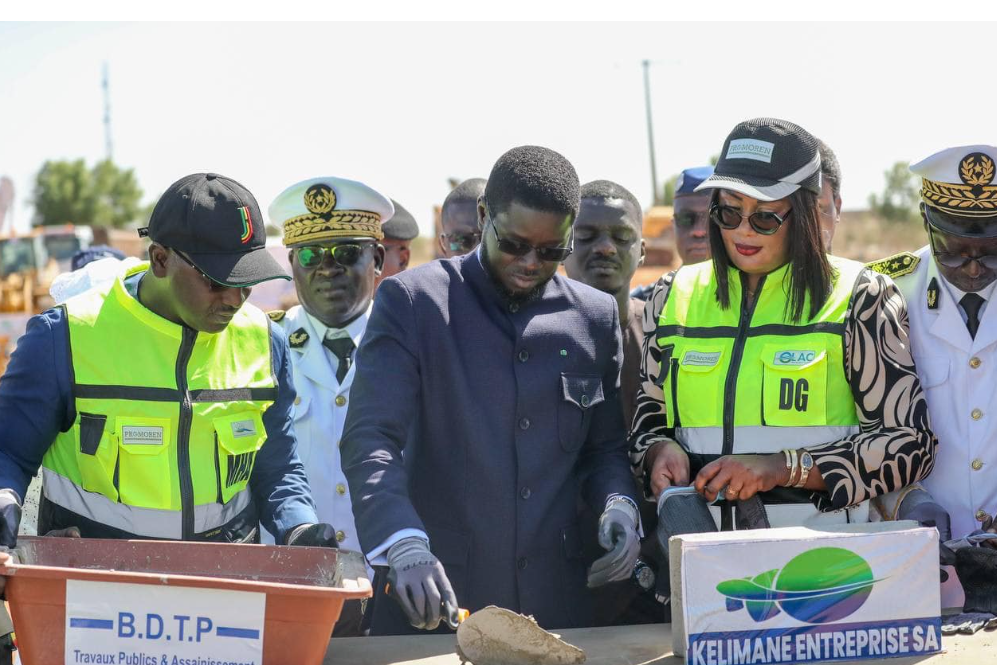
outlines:
[[[963,292],[938,273],[929,247],[916,255],[914,272],[894,281],[907,299],[914,362],[938,437],[935,468],[922,484],[952,517],[952,537],[961,538],[997,512],[997,307],[984,305],[973,339],[959,306]],[[995,286],[980,295],[989,301]],[[943,588],[942,605],[961,606],[948,591]]]

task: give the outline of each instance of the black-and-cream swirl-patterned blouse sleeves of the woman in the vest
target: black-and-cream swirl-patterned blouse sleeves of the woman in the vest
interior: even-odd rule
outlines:
[[[675,273],[658,280],[644,307],[640,389],[630,433],[630,461],[643,477],[652,444],[672,439],[657,385],[657,328]],[[814,492],[820,510],[839,510],[914,483],[930,472],[937,441],[911,357],[907,304],[889,278],[862,271],[845,320],[845,373],[855,397],[859,432],[808,447],[827,492]]]

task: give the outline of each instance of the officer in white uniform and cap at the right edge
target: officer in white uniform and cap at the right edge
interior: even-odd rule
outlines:
[[[989,145],[948,148],[913,164],[928,245],[872,266],[892,276],[907,300],[914,361],[938,436],[935,468],[922,485],[948,513],[954,539],[990,528],[997,512],[997,306],[988,305],[997,287],[995,164],[997,147]],[[899,505],[893,510],[903,516]],[[961,607],[961,596],[953,575],[942,606]]]

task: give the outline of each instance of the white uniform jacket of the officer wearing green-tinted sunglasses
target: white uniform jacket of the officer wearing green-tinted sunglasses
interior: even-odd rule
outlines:
[[[337,333],[349,335],[356,347],[360,346],[370,308]],[[305,312],[300,305],[288,310],[279,325],[287,333],[291,345],[291,365],[294,371],[294,432],[298,441],[298,457],[305,467],[308,484],[312,490],[319,521],[336,528],[336,538],[342,549],[360,551],[350,504],[350,488],[343,475],[339,457],[339,441],[346,423],[349,408],[350,386],[356,375],[356,362],[343,377],[336,380],[339,358],[322,345],[330,329]],[[295,333],[304,331],[307,340],[295,344]],[[356,350],[353,352],[356,360]],[[263,542],[273,543],[273,537],[264,532]],[[369,572],[369,571],[368,571]]]

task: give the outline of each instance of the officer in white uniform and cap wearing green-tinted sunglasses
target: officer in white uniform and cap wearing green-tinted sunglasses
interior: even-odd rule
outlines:
[[[381,224],[394,208],[363,183],[327,177],[288,187],[269,212],[271,222],[283,225],[301,303],[270,312],[291,347],[298,456],[320,520],[336,525],[340,548],[361,551],[339,439],[357,373],[356,349],[384,265]],[[337,634],[348,623],[341,620]]]

